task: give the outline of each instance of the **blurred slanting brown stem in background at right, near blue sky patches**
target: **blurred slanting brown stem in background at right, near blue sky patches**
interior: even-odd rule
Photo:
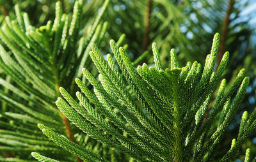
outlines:
[[[222,59],[224,50],[225,50],[225,42],[227,40],[227,33],[228,33],[228,26],[230,24],[230,14],[232,12],[234,6],[234,0],[229,0],[228,2],[228,8],[226,11],[226,15],[223,21],[223,30],[221,32],[221,37],[220,37],[220,48],[219,48],[219,52],[218,52],[218,57],[217,57],[217,64],[216,64],[216,69],[218,69],[219,65],[220,65],[220,61]]]

